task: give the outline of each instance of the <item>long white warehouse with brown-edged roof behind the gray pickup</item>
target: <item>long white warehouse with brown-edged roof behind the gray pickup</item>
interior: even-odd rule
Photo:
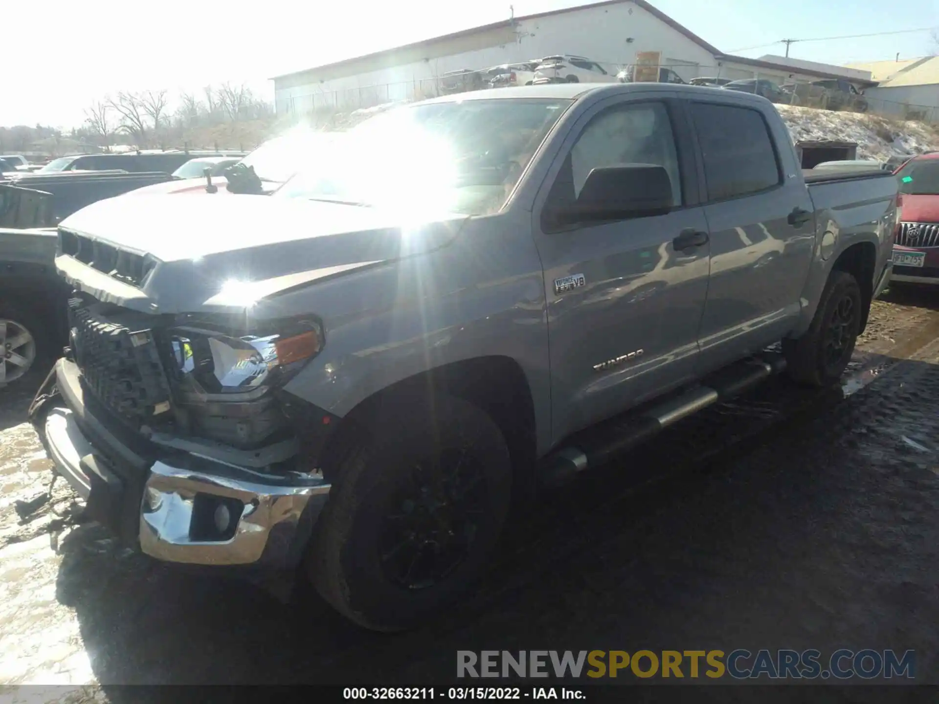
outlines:
[[[439,95],[447,71],[575,54],[615,74],[639,52],[658,52],[685,81],[697,76],[758,76],[782,83],[846,78],[867,84],[866,71],[777,57],[721,54],[645,0],[605,0],[576,8],[513,17],[443,37],[275,77],[278,114],[367,108]]]

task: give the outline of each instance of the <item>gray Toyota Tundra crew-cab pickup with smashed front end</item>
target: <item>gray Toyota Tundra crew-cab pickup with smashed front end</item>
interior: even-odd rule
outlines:
[[[62,222],[30,417],[127,543],[299,570],[369,628],[468,589],[539,482],[783,369],[836,382],[889,275],[895,179],[807,183],[745,93],[503,88],[347,136],[272,195]]]

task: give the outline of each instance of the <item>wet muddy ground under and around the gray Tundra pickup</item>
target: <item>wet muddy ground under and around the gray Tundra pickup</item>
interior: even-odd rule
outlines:
[[[401,635],[120,549],[63,481],[30,512],[31,392],[0,391],[0,683],[444,682],[486,648],[892,648],[939,683],[936,296],[876,301],[841,389],[770,380],[546,496],[466,603]]]

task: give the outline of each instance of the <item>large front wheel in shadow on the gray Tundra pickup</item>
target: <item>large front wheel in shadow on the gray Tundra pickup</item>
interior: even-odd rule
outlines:
[[[512,465],[477,406],[382,418],[337,458],[307,570],[337,611],[398,631],[453,603],[483,573],[509,509]]]

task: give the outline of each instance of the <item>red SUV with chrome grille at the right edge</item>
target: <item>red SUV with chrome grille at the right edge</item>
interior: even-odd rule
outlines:
[[[914,157],[894,173],[902,206],[890,281],[939,284],[939,153]]]

